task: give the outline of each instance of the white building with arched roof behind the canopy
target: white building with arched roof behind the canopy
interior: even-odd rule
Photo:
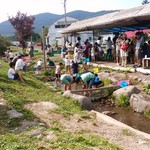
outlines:
[[[70,26],[72,23],[77,22],[78,20],[72,17],[66,17],[67,20],[67,27]],[[46,44],[50,45],[64,45],[64,35],[61,34],[61,31],[65,28],[65,18],[61,18],[50,25],[48,29],[48,35],[46,39]],[[85,41],[87,38],[93,39],[93,33],[90,31],[77,33],[75,36],[67,35],[69,42],[75,43],[77,37],[81,37],[81,41]]]

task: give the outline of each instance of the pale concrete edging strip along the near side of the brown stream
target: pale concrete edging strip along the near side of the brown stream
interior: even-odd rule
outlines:
[[[105,114],[102,114],[100,112],[97,112],[97,111],[94,111],[94,110],[91,110],[91,112],[94,112],[96,114],[96,117],[97,117],[98,120],[103,119],[104,121],[106,121],[106,122],[108,122],[110,124],[117,125],[117,126],[119,126],[121,128],[129,129],[132,132],[136,133],[137,135],[142,135],[146,139],[150,139],[150,134],[148,134],[148,133],[136,130],[136,129],[134,129],[134,128],[132,128],[132,127],[130,127],[130,126],[128,126],[128,125],[118,121],[118,120],[115,120],[112,117],[109,117],[109,116],[107,116]]]

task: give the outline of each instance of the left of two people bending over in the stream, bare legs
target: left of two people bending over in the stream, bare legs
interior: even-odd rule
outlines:
[[[69,74],[63,74],[60,77],[61,82],[64,84],[64,90],[71,90],[71,83],[73,82],[73,77]]]

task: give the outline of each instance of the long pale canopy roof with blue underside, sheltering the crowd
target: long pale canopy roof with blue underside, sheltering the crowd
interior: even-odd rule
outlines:
[[[126,32],[150,28],[150,4],[125,9],[71,24],[62,34],[81,31],[102,30],[104,32]]]

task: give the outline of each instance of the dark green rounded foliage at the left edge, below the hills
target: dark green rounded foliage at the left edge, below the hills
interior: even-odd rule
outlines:
[[[0,35],[0,54],[7,50],[7,47],[10,46],[10,41],[8,41],[5,37]]]

